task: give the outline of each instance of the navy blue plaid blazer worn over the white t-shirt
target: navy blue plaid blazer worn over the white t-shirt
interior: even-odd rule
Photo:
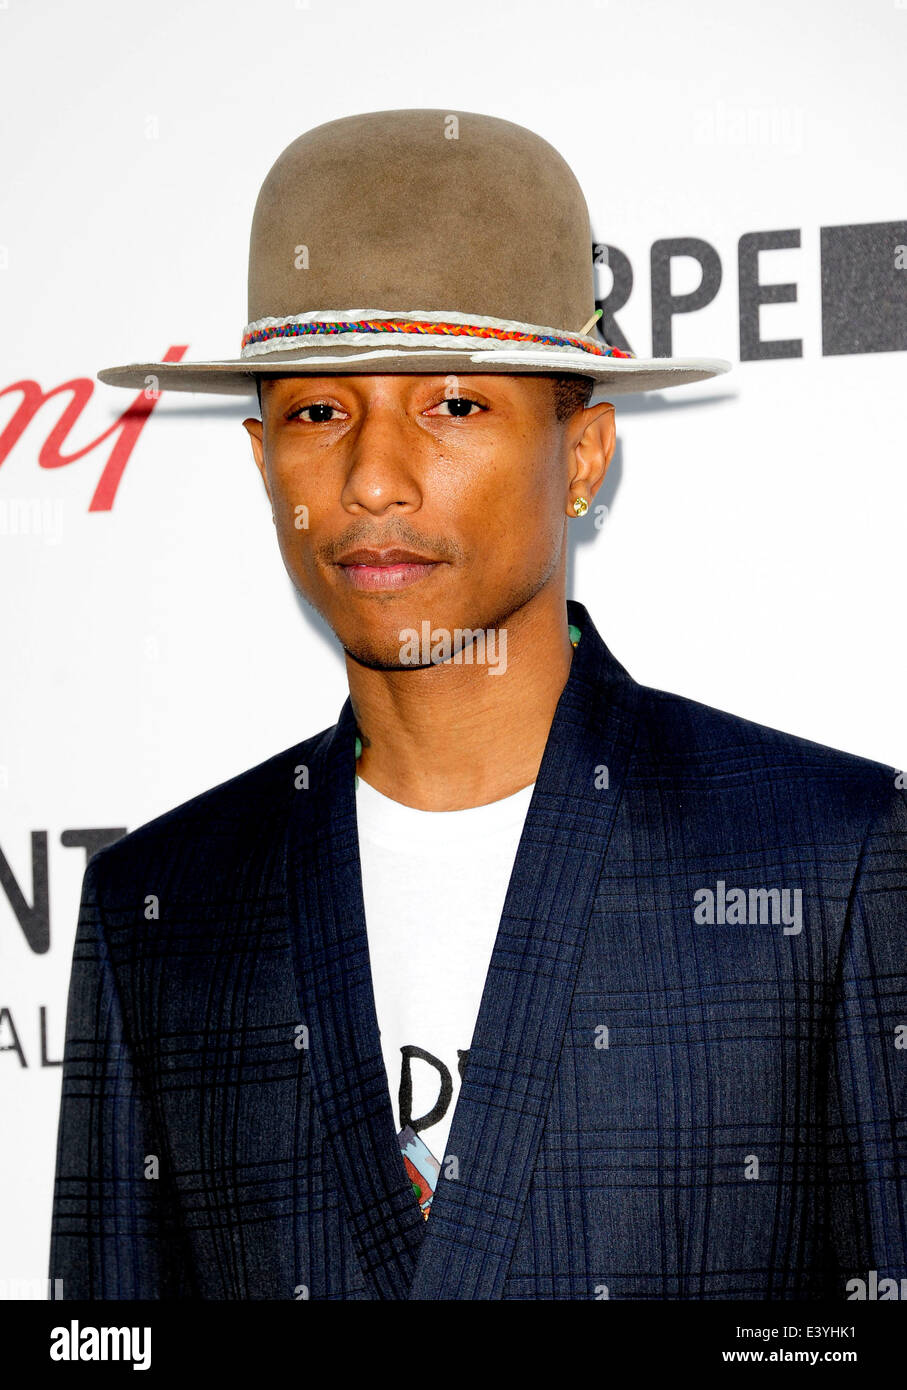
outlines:
[[[568,619],[429,1219],[382,1063],[347,699],[86,867],[64,1298],[846,1300],[907,1277],[901,778],[639,685]],[[704,890],[758,912],[701,920]],[[772,920],[797,890],[801,930]]]

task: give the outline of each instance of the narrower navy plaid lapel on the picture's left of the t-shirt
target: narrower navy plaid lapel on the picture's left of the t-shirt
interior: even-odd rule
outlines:
[[[406,1298],[425,1219],[397,1144],[381,1052],[356,823],[356,719],[347,699],[310,759],[288,837],[300,1022],[314,1098],[367,1289]]]

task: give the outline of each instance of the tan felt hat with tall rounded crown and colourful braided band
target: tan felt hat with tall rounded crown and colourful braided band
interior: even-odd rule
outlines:
[[[300,135],[265,178],[238,356],[97,375],[240,395],[278,374],[576,373],[611,396],[731,367],[635,357],[596,318],[589,208],[547,140],[472,111],[368,111]]]

